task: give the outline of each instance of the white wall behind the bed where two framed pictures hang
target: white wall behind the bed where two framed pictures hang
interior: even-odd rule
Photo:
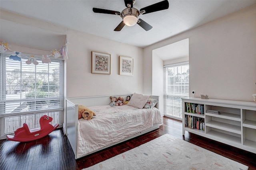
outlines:
[[[142,93],[142,49],[68,30],[67,96]],[[111,74],[92,74],[92,51],[111,54]],[[120,76],[119,56],[134,58],[134,76]],[[110,101],[111,102],[111,101]]]

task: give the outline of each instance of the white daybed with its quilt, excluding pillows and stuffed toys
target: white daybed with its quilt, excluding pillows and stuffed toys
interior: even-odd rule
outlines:
[[[113,96],[126,98],[131,95]],[[157,129],[162,123],[158,104],[151,109],[127,105],[111,107],[109,97],[66,99],[66,135],[76,159]],[[159,99],[159,96],[151,98]],[[78,120],[78,105],[88,107],[96,116],[89,121]]]

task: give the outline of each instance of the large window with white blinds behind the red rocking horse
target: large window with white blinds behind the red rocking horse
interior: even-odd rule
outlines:
[[[10,55],[0,54],[0,117],[4,122],[2,134],[13,133],[23,123],[30,129],[40,127],[38,116],[49,115],[52,123],[60,123],[63,111],[63,61],[51,59],[38,65],[26,64],[28,57],[21,61],[9,59]]]

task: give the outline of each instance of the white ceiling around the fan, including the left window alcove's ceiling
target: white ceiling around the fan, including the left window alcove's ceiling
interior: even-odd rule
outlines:
[[[137,0],[134,8],[140,10],[160,1]],[[152,25],[149,31],[137,24],[113,31],[122,18],[92,11],[95,7],[121,12],[126,8],[123,0],[0,0],[0,9],[143,48],[254,4],[256,0],[169,0],[169,9],[140,16]],[[38,39],[42,42],[49,42],[44,41],[46,36],[52,40],[64,39],[58,33],[5,20],[1,20],[0,26],[1,39],[16,45],[24,45],[29,39],[27,47],[42,48]]]

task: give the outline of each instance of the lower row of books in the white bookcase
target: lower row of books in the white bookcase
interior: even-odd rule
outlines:
[[[204,118],[185,115],[185,127],[204,131]]]

